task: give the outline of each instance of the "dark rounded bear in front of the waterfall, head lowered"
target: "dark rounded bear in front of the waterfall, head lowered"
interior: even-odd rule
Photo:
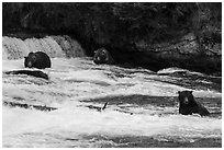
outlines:
[[[51,68],[52,62],[49,57],[43,51],[30,53],[27,57],[24,57],[24,66],[25,68],[37,68],[37,69],[45,69]]]

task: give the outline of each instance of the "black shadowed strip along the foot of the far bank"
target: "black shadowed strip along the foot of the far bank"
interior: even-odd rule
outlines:
[[[69,32],[61,32],[61,31],[7,31],[2,33],[2,36],[8,37],[16,37],[21,39],[26,38],[44,38],[46,36],[69,36],[72,39],[76,39],[80,43],[81,47],[86,49],[86,54],[88,57],[93,57],[93,51],[97,48],[88,47],[86,39],[80,38]],[[98,46],[98,48],[103,46]],[[105,46],[105,48],[111,53],[112,57],[115,60],[115,65],[127,67],[127,68],[144,68],[149,69],[152,71],[159,71],[165,68],[170,67],[179,67],[183,69],[188,69],[191,71],[202,72],[209,76],[222,77],[222,59],[220,61],[220,56],[187,56],[187,55],[178,55],[180,58],[176,58],[172,55],[164,55],[163,51],[150,51],[145,50],[142,51],[139,49],[135,50],[124,50],[122,48],[112,48]],[[215,66],[214,66],[215,64]]]

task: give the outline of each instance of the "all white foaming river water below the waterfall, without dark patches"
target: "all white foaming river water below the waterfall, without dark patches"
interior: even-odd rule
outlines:
[[[57,107],[57,111],[11,108],[3,106],[3,145],[7,147],[40,147],[48,142],[52,147],[71,145],[66,138],[77,138],[83,146],[83,135],[107,136],[177,136],[182,139],[195,137],[222,137],[220,118],[182,116],[178,114],[158,115],[156,106],[146,111],[138,106],[136,114],[115,111],[109,105],[104,112],[85,107],[81,100],[114,95],[142,94],[149,96],[177,96],[182,86],[154,80],[156,74],[144,73],[143,69],[124,69],[114,66],[96,66],[89,58],[52,58],[53,68],[47,72],[49,81],[29,76],[3,74],[3,101],[21,102]],[[2,70],[25,69],[23,59],[3,60]],[[138,71],[138,73],[130,73]],[[141,72],[142,71],[142,72]],[[122,72],[119,77],[115,73]],[[159,78],[158,78],[159,79]],[[200,96],[220,97],[216,91],[199,90]],[[109,102],[110,103],[110,102]],[[97,104],[94,104],[97,105]],[[100,104],[99,104],[100,105]],[[167,107],[173,112],[177,107]],[[132,108],[131,108],[132,111]],[[154,114],[154,115],[150,115]],[[59,138],[58,138],[59,137]],[[65,141],[59,145],[59,141]],[[29,145],[30,143],[30,145]],[[89,141],[85,141],[90,145]],[[59,146],[58,146],[59,145]],[[78,143],[77,143],[78,145]]]

